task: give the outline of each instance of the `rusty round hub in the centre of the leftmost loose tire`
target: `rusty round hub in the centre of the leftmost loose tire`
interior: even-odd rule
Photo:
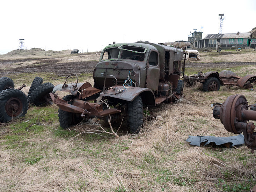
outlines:
[[[11,117],[16,117],[20,115],[23,109],[23,104],[21,99],[17,97],[10,98],[5,104],[5,111],[7,115]]]

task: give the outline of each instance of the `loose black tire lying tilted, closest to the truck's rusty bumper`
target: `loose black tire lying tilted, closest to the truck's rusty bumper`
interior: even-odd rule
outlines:
[[[43,83],[37,86],[29,97],[30,103],[36,106],[47,103],[47,100],[50,99],[49,93],[52,93],[53,87],[52,83]]]

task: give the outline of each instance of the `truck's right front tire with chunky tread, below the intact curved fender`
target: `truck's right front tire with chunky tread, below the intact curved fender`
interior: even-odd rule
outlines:
[[[140,96],[137,96],[132,102],[128,102],[128,122],[131,133],[139,133],[143,124],[143,105]]]

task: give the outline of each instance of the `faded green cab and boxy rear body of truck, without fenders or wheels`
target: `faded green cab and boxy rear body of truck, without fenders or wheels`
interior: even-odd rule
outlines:
[[[182,60],[183,51],[174,47],[148,42],[112,44],[102,51],[94,69],[94,87],[103,90],[105,78],[113,75],[117,84],[130,79],[129,86],[148,88],[156,97],[166,96],[177,88],[184,73]],[[113,86],[113,79],[105,81],[106,88]]]

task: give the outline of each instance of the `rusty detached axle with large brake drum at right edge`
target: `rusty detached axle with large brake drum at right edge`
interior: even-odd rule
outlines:
[[[220,119],[228,132],[235,134],[243,132],[246,146],[251,149],[251,153],[254,153],[256,150],[255,124],[248,121],[256,120],[256,104],[248,105],[243,95],[231,95],[223,104],[214,107],[213,117]]]

